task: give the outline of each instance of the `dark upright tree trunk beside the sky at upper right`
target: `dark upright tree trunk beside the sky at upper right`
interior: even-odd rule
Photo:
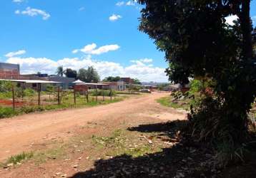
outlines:
[[[250,0],[242,1],[240,16],[242,27],[242,50],[245,59],[252,58],[252,24],[250,19]]]

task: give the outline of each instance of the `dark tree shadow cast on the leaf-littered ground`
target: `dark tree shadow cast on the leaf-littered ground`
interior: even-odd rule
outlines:
[[[169,146],[162,152],[131,157],[121,155],[112,159],[100,159],[94,163],[94,169],[74,174],[79,177],[211,177],[217,170],[211,167],[212,157],[203,147],[194,142],[184,142],[179,137],[179,129],[187,124],[186,120],[176,120],[149,125],[129,127],[131,132],[154,132],[156,137],[167,135]],[[154,143],[153,143],[154,144]]]

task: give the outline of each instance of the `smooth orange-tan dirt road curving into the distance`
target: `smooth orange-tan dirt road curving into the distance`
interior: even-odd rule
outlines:
[[[118,119],[134,113],[156,115],[159,119],[184,118],[184,113],[156,103],[157,98],[166,95],[168,93],[154,93],[94,108],[34,113],[0,120],[0,161],[20,152],[33,150],[34,143],[54,137],[69,137],[69,132],[75,127],[95,120]]]

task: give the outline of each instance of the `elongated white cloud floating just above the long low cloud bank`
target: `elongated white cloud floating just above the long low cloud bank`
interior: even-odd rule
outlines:
[[[82,48],[82,49],[74,49],[72,51],[72,53],[78,53],[79,51],[81,51],[82,53],[86,53],[86,54],[99,55],[102,53],[107,53],[109,51],[117,51],[119,48],[120,48],[120,46],[118,46],[117,44],[106,45],[106,46],[101,46],[101,47],[97,48],[97,44],[92,43],[87,46],[84,46],[84,48]]]

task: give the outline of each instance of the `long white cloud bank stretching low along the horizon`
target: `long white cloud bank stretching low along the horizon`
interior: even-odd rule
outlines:
[[[85,58],[63,58],[58,61],[53,61],[50,58],[20,58],[11,57],[6,62],[7,63],[19,63],[21,66],[21,73],[49,73],[54,74],[58,66],[64,66],[64,68],[72,68],[74,70],[79,70],[79,68],[87,68],[93,66],[98,71],[101,78],[107,76],[121,77],[131,77],[139,78],[139,80],[149,82],[158,81],[166,82],[167,76],[164,73],[164,68],[158,68],[152,66],[152,64],[147,64],[152,59],[140,59],[134,60],[139,61],[139,63],[132,63],[129,66],[122,66],[119,63],[109,62],[109,61],[97,61],[92,59],[90,56]],[[144,62],[145,63],[144,63]]]

